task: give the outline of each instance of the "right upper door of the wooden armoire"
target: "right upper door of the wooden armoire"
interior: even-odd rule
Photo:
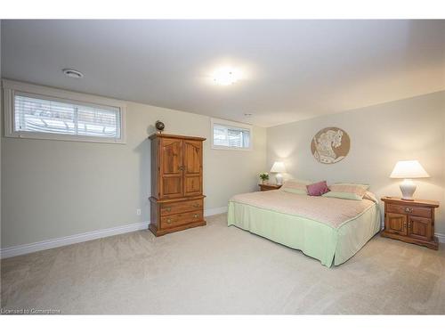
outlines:
[[[184,196],[202,194],[202,142],[184,140]]]

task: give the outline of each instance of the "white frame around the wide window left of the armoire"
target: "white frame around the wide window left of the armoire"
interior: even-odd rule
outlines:
[[[87,143],[126,143],[126,104],[125,102],[91,94],[26,84],[19,81],[2,80],[4,93],[4,136],[24,139],[44,139]],[[36,97],[51,101],[77,103],[90,107],[112,107],[120,110],[120,138],[106,138],[92,135],[51,134],[45,132],[16,131],[15,95]]]

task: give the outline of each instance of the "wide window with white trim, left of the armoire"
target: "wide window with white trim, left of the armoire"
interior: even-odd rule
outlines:
[[[4,80],[10,137],[125,143],[125,106],[87,94]]]

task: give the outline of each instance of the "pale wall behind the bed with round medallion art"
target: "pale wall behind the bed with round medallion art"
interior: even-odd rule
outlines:
[[[333,165],[317,162],[310,148],[328,126],[351,138],[349,155]],[[267,128],[267,167],[285,161],[287,178],[369,183],[379,197],[400,196],[401,181],[389,175],[401,159],[418,159],[431,175],[417,181],[415,196],[441,201],[436,232],[445,233],[445,92]]]

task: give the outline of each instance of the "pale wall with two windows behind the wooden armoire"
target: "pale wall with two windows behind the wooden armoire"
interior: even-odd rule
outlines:
[[[210,118],[128,102],[125,145],[2,137],[2,248],[148,221],[147,137],[158,119],[168,134],[207,138],[206,209],[256,189],[265,167],[264,128],[254,127],[254,151],[212,150]]]

